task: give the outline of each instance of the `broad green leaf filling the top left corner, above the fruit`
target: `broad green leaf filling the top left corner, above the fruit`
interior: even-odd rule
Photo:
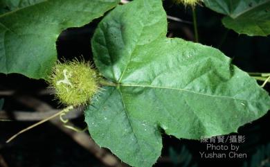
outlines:
[[[1,73],[46,78],[57,59],[55,41],[62,30],[89,23],[119,0],[37,2],[0,16]]]

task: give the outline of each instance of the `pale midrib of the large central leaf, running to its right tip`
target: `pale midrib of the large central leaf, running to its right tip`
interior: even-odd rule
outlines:
[[[240,98],[232,98],[230,96],[215,96],[215,95],[210,95],[210,94],[203,94],[197,91],[191,91],[188,89],[180,89],[180,88],[174,88],[174,87],[161,87],[161,86],[154,86],[154,85],[136,85],[136,84],[119,84],[119,86],[121,87],[148,87],[148,88],[154,88],[154,89],[170,89],[170,90],[177,90],[177,91],[186,91],[192,94],[199,94],[202,96],[209,96],[209,97],[213,97],[213,98],[229,98],[231,100],[241,100],[241,101],[249,101],[249,102],[254,102],[254,103],[258,103],[257,101],[253,101],[253,100],[246,100],[246,99],[240,99]]]

